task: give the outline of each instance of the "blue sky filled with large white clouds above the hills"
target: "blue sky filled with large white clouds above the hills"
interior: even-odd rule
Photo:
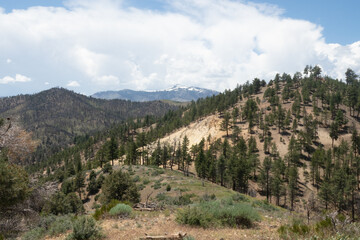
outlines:
[[[357,0],[0,0],[0,96],[360,74]]]

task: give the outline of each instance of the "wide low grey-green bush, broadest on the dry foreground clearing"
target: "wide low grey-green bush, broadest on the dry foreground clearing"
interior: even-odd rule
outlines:
[[[179,210],[176,220],[182,224],[204,228],[218,226],[250,228],[255,221],[260,220],[260,215],[247,203],[204,201]]]

